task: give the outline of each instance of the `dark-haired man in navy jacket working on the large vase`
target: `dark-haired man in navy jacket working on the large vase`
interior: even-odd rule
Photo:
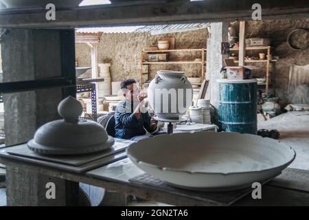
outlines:
[[[133,139],[152,133],[157,129],[157,121],[150,117],[144,107],[146,95],[141,93],[134,79],[124,80],[120,85],[124,100],[115,111],[115,136]]]

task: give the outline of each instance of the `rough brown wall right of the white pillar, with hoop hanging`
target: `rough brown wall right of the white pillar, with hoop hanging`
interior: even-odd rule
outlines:
[[[238,23],[234,23],[238,27]],[[287,102],[288,76],[290,66],[307,65],[309,63],[309,47],[303,51],[291,50],[286,43],[290,31],[295,28],[309,30],[309,19],[280,19],[272,21],[249,21],[246,23],[247,38],[262,37],[271,39],[273,56],[279,56],[279,60],[271,65],[271,80],[273,89],[271,92],[279,96],[282,104]],[[297,36],[294,36],[297,39]],[[293,38],[294,38],[293,37]],[[301,36],[299,36],[301,39]],[[306,39],[307,43],[309,39]],[[256,52],[258,53],[258,52]],[[255,76],[265,76],[266,63],[255,64],[260,67],[255,70]]]

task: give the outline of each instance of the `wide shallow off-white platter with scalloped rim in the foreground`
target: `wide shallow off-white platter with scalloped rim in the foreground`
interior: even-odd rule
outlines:
[[[240,133],[174,133],[131,144],[128,157],[168,184],[222,191],[271,179],[295,159],[295,151],[266,137]]]

